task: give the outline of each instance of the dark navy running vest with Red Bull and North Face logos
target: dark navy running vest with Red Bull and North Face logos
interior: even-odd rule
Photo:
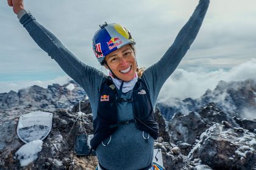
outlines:
[[[91,148],[96,150],[102,141],[123,124],[135,123],[137,129],[147,132],[155,140],[158,138],[158,124],[154,119],[154,110],[149,97],[149,90],[141,78],[133,87],[132,98],[121,98],[123,84],[116,89],[110,77],[106,78],[99,90],[98,113],[93,120],[94,137],[91,139]],[[126,121],[118,120],[117,103],[132,102],[133,119]],[[144,137],[144,135],[143,135]],[[147,140],[147,137],[144,137]],[[148,136],[149,138],[149,136]],[[109,143],[109,141],[108,141]],[[103,143],[102,143],[103,144]]]

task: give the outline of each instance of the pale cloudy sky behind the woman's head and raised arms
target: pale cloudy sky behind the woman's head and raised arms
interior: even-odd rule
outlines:
[[[30,0],[24,3],[37,21],[79,60],[106,72],[91,49],[91,38],[99,24],[117,22],[129,29],[137,42],[138,65],[149,67],[171,46],[198,1]],[[219,80],[254,78],[255,7],[254,0],[211,1],[196,40],[162,91],[168,90],[169,97],[198,97],[206,89],[213,89]],[[0,93],[70,80],[30,38],[6,1],[0,1],[0,28]],[[160,97],[165,95],[162,93]]]

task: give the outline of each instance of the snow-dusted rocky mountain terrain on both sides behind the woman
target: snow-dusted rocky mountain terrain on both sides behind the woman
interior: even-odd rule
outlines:
[[[213,92],[207,90],[201,104],[199,100],[185,100],[193,111],[182,112],[167,103],[157,105],[155,120],[160,137],[155,140],[155,148],[162,150],[166,169],[256,169],[256,121],[243,117],[244,109],[254,110],[256,106],[255,83],[219,84]],[[235,109],[227,110],[222,107],[227,103],[214,102],[214,96],[224,91],[229,94],[229,98],[224,95],[224,101]],[[34,155],[35,160],[24,166],[24,155],[17,152],[25,144],[16,133],[18,120],[38,110],[53,114],[52,129]],[[168,113],[172,116],[167,120],[162,115]],[[98,160],[94,154],[85,157],[74,152],[77,135],[90,138],[93,134],[92,121],[90,101],[74,81],[0,94],[0,169],[95,169]]]

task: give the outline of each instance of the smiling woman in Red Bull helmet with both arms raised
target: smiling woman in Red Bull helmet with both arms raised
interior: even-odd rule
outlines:
[[[38,46],[87,92],[93,110],[91,146],[99,169],[151,169],[158,137],[153,117],[157,96],[196,38],[209,0],[199,1],[172,46],[143,73],[137,66],[130,32],[119,24],[101,25],[93,37],[93,50],[101,65],[110,70],[110,77],[77,60],[24,10],[23,0],[8,3]]]

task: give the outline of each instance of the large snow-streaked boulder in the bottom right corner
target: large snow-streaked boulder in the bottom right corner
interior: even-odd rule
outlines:
[[[191,150],[191,161],[200,159],[213,169],[252,169],[256,167],[256,135],[244,129],[237,132],[221,124],[213,124]]]

